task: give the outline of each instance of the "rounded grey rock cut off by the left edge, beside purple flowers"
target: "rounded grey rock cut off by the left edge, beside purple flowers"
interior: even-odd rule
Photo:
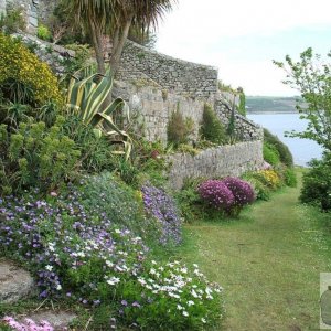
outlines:
[[[11,261],[0,260],[0,303],[11,303],[34,290],[30,274]]]

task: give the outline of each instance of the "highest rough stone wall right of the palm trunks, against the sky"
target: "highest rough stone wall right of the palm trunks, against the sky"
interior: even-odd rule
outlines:
[[[140,73],[177,94],[210,98],[217,90],[215,67],[178,60],[128,41],[117,77],[132,82],[141,78]]]

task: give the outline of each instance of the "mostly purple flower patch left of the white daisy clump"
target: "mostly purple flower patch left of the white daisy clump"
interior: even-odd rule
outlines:
[[[84,296],[108,277],[130,277],[139,269],[148,250],[142,239],[107,215],[87,214],[75,200],[31,201],[32,196],[0,200],[0,247],[29,261],[41,297],[68,288]],[[97,291],[82,297],[86,302],[99,299]]]

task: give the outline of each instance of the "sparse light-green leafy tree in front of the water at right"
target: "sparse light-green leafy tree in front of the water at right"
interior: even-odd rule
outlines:
[[[331,53],[328,54],[331,58]],[[308,120],[305,131],[291,131],[291,137],[308,138],[331,151],[331,64],[322,62],[321,56],[313,54],[311,47],[300,54],[300,60],[293,62],[287,55],[286,63],[274,63],[286,71],[286,81],[300,92],[301,98],[297,100],[297,109],[301,119]]]

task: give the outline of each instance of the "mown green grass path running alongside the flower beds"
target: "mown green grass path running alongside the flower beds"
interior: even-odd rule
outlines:
[[[330,246],[318,213],[298,195],[299,188],[286,189],[239,220],[186,227],[181,255],[225,289],[224,330],[319,330],[319,277],[331,271]]]

